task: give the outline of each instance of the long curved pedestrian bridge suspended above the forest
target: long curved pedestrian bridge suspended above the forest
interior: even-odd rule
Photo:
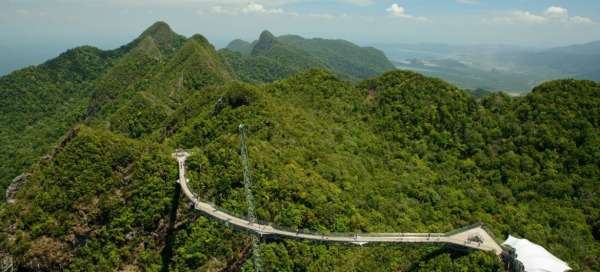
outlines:
[[[502,247],[483,227],[478,223],[465,228],[447,233],[357,233],[357,234],[335,234],[335,233],[306,233],[301,231],[283,230],[273,227],[271,224],[260,224],[250,222],[217,209],[210,203],[198,199],[188,187],[185,177],[185,160],[189,154],[178,151],[173,154],[179,163],[179,184],[185,196],[194,204],[194,208],[203,214],[213,217],[227,225],[256,233],[260,236],[278,236],[282,238],[306,239],[322,242],[340,242],[364,245],[367,243],[445,243],[465,248],[472,248],[494,252],[501,255]]]

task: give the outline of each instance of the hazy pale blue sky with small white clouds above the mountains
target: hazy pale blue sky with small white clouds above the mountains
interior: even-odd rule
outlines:
[[[0,62],[82,44],[114,48],[157,20],[218,47],[264,29],[359,44],[551,47],[600,40],[597,0],[0,0],[0,50],[11,52]]]

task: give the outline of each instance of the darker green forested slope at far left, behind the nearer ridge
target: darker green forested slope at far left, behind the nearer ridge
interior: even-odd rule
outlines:
[[[0,191],[84,116],[91,82],[118,56],[83,46],[0,78]]]

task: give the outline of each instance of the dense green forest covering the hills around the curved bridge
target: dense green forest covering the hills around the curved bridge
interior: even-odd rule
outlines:
[[[250,54],[295,39],[264,36],[271,44]],[[291,55],[318,51],[308,47]],[[289,75],[261,78],[231,64],[258,58],[272,67],[269,56],[218,52],[157,23],[119,49],[76,48],[0,78],[2,182],[30,174],[0,204],[0,252],[24,271],[253,271],[248,234],[195,212],[171,158],[193,153],[194,192],[243,216],[243,123],[260,220],[322,232],[482,221],[575,271],[600,270],[599,83],[476,97],[407,71],[351,81],[284,59],[276,65]],[[502,267],[493,254],[435,244],[260,247],[267,271]]]

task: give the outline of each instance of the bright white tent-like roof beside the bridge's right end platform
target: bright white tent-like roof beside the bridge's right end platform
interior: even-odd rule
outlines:
[[[564,272],[569,271],[569,265],[556,258],[542,246],[536,245],[527,239],[508,236],[502,243],[515,249],[519,260],[526,272]]]

